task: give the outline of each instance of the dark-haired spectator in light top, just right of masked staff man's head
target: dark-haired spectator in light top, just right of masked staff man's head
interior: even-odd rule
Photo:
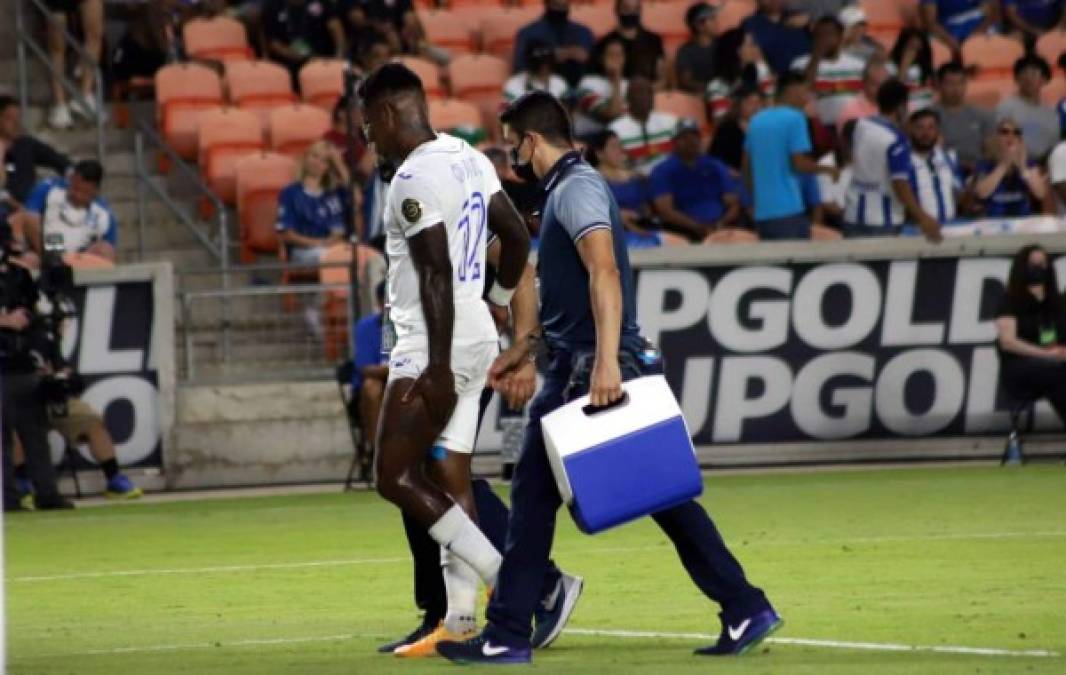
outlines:
[[[574,130],[589,138],[626,112],[629,80],[625,77],[626,48],[620,39],[610,39],[597,50],[592,73],[581,78],[574,92]]]

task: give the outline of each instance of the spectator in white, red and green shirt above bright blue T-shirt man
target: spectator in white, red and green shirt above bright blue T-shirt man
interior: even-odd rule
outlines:
[[[865,64],[841,51],[844,27],[835,16],[823,16],[814,23],[813,46],[809,55],[792,62],[792,69],[803,73],[818,98],[818,116],[826,127],[837,126],[841,110],[859,95]]]

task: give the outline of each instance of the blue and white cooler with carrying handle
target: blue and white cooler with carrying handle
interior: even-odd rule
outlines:
[[[540,420],[563,502],[588,534],[698,497],[704,482],[689,428],[666,379],[623,385],[620,404],[587,396]]]

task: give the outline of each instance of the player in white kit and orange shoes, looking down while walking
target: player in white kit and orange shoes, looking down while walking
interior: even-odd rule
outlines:
[[[410,656],[422,656],[439,640],[473,634],[479,577],[492,586],[500,567],[500,553],[472,519],[470,455],[479,398],[498,355],[494,315],[507,316],[530,241],[488,159],[433,131],[417,75],[387,64],[359,94],[368,140],[398,167],[385,208],[397,342],[377,429],[377,492],[441,545],[448,595],[440,629],[410,645],[418,647]],[[502,247],[486,304],[489,230]],[[532,315],[535,323],[535,301]]]

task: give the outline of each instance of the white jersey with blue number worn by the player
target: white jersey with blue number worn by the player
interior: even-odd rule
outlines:
[[[500,190],[488,158],[447,133],[420,145],[397,170],[385,203],[385,253],[389,260],[389,318],[399,343],[409,345],[427,339],[418,273],[407,240],[439,223],[447,228],[452,260],[452,344],[497,340],[482,293],[488,203]]]

